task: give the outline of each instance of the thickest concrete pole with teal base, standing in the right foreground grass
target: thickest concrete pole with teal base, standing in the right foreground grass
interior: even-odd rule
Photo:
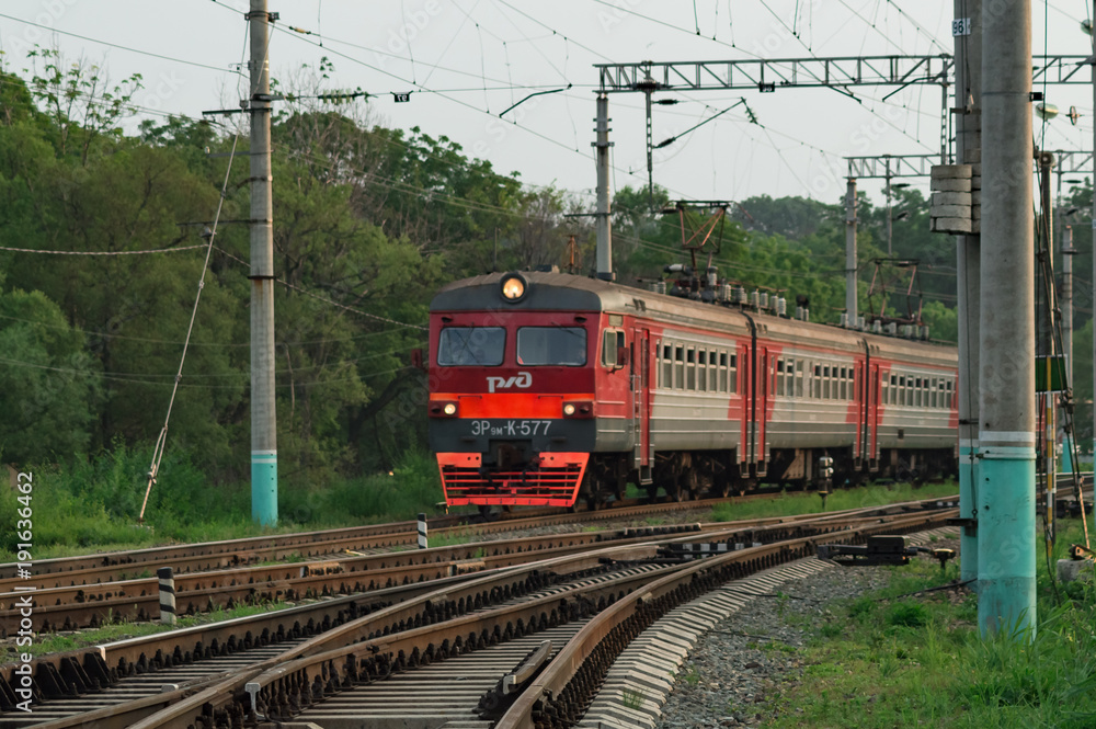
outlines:
[[[983,14],[978,623],[1036,626],[1031,0]]]

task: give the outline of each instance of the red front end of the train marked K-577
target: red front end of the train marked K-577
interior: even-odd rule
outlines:
[[[550,286],[535,285],[539,303],[500,307],[490,286],[466,310],[431,315],[430,443],[449,505],[569,506],[579,494],[597,437],[601,312],[545,310]]]

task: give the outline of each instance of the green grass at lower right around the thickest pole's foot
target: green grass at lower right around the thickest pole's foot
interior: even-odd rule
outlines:
[[[1075,521],[1059,527],[1053,559],[1082,538]],[[1041,544],[1040,536],[1040,553]],[[765,726],[1096,726],[1096,589],[1061,591],[1059,603],[1044,554],[1038,567],[1039,624],[1030,643],[983,640],[977,595],[909,594],[955,580],[957,565],[941,571],[918,559],[881,568],[890,571],[884,590],[814,620],[802,679],[774,699]]]

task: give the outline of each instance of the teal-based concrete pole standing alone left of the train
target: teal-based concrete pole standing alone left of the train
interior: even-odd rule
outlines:
[[[277,523],[274,407],[274,202],[271,185],[270,24],[266,0],[251,0],[251,517]]]

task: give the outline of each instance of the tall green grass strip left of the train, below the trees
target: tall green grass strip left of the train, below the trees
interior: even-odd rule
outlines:
[[[251,520],[251,486],[210,486],[183,452],[164,457],[145,525],[137,525],[149,454],[117,446],[70,466],[25,467],[34,475],[31,506],[34,559],[215,542],[414,519],[442,499],[437,464],[429,453],[404,454],[391,474],[327,485],[279,485],[279,524]],[[0,562],[15,560],[19,493],[0,488]]]

